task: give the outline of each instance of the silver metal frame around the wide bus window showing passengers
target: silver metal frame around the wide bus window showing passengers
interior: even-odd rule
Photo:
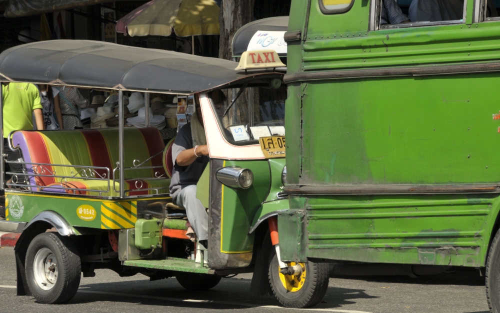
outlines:
[[[480,0],[475,0],[476,2]],[[416,21],[409,23],[399,23],[399,24],[383,24],[380,25],[380,14],[381,14],[381,3],[382,0],[372,0],[370,1],[370,18],[368,30],[379,30],[379,29],[393,29],[393,28],[408,28],[408,27],[422,27],[422,26],[435,26],[435,25],[456,25],[464,24],[467,15],[467,0],[463,0],[463,16],[462,19],[454,20],[441,20],[441,21]]]

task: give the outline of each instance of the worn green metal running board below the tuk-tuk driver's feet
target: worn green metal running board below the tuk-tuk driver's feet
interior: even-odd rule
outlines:
[[[145,267],[152,269],[166,269],[175,271],[186,271],[190,273],[214,274],[215,270],[206,267],[201,267],[200,263],[195,263],[194,260],[183,258],[168,258],[164,260],[133,260],[123,261],[123,265]]]

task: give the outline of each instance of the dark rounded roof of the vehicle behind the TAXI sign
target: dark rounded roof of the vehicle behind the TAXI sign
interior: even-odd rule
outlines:
[[[251,37],[259,30],[286,31],[288,30],[288,16],[257,19],[241,26],[234,34],[234,37],[232,37],[232,55],[241,56],[241,54],[246,51]]]

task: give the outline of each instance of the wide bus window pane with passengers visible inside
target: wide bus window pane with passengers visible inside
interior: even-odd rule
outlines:
[[[465,21],[466,0],[375,0],[372,3],[375,3],[377,12],[377,27],[374,29]]]

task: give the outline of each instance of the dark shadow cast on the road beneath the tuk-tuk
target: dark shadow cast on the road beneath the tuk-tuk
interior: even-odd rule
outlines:
[[[175,278],[160,281],[131,280],[82,284],[76,296],[67,304],[84,304],[97,301],[117,301],[145,305],[164,305],[186,308],[242,309],[251,306],[276,305],[273,296],[251,297],[250,279],[223,279],[206,291],[188,291]],[[109,293],[109,294],[105,294]],[[314,308],[338,308],[356,303],[355,299],[376,298],[362,289],[328,287],[323,301]],[[334,299],[332,301],[331,299]]]

